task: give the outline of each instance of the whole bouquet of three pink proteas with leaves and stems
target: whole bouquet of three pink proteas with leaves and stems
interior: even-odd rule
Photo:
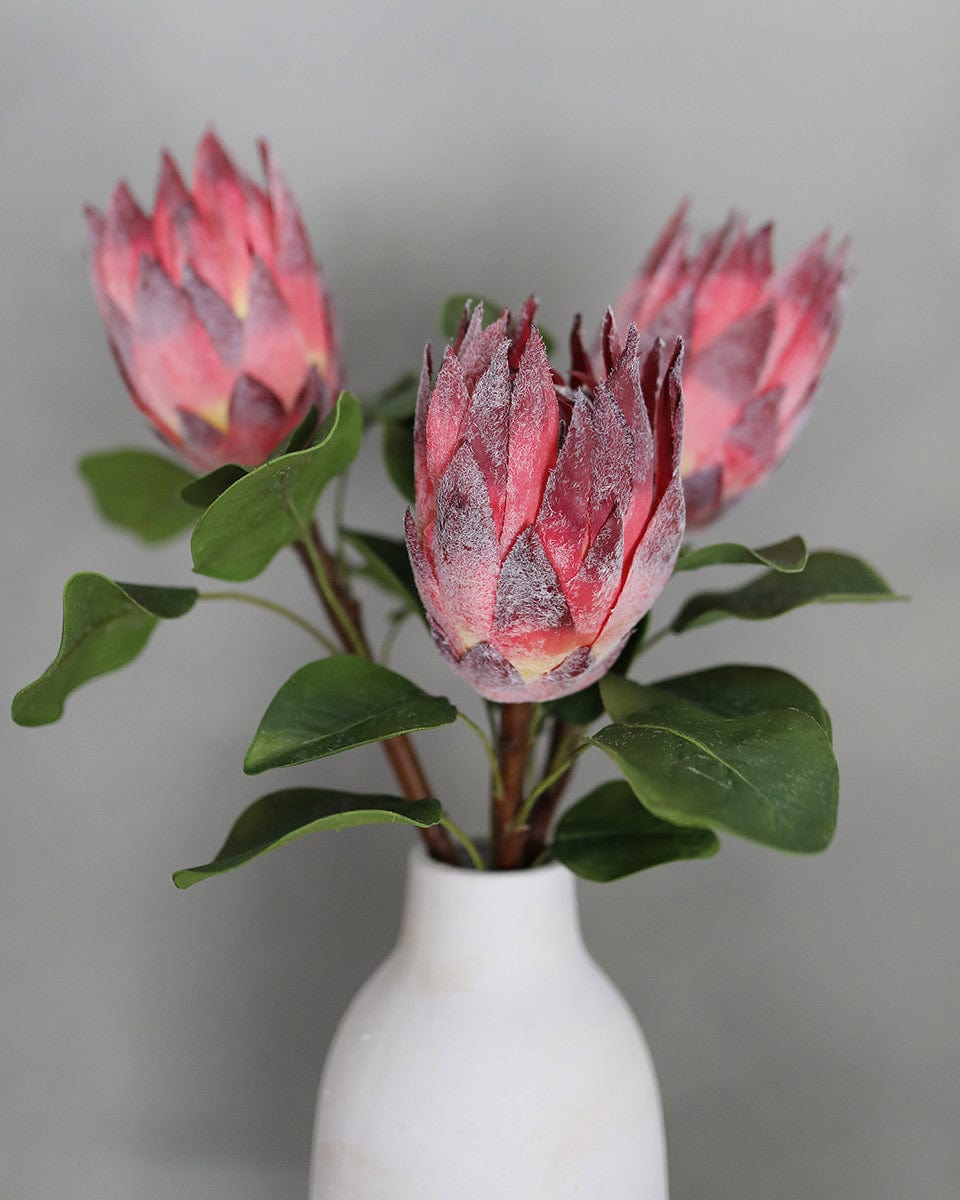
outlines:
[[[246,582],[290,547],[320,616],[233,588],[77,575],[56,658],[18,694],[14,720],[56,720],[73,689],[133,659],[160,622],[233,599],[314,643],[268,704],[245,770],[380,742],[398,794],[274,791],[212,862],[174,875],[179,887],[314,830],[374,822],[418,827],[450,863],[510,869],[552,856],[593,880],[712,854],[720,830],[823,850],[838,772],[829,719],[804,683],[745,665],[629,676],[643,677],[644,650],[668,634],[892,598],[862,560],[808,553],[797,536],[756,550],[683,544],[685,527],[708,524],[786,454],[836,337],[845,247],[821,238],[775,271],[769,227],[731,220],[691,250],[680,209],[598,335],[575,320],[565,374],[533,299],[511,314],[454,298],[437,373],[427,348],[419,379],[361,404],[341,391],[330,299],[265,148],[263,160],[265,190],[208,134],[192,187],[164,156],[151,216],[122,185],[106,214],[89,211],[110,348],[137,406],[192,469],[120,450],[82,470],[104,517],[145,541],[193,526],[200,575]],[[342,491],[370,430],[413,505],[406,528],[400,504],[392,535],[350,528],[342,497],[335,528],[322,528],[320,496]],[[673,572],[715,564],[760,570],[694,595],[652,630]],[[374,654],[358,584],[388,594],[394,634],[407,617],[426,623],[485,697],[488,731]],[[488,756],[488,850],[432,793],[410,742],[457,718]],[[606,754],[618,778],[557,821],[587,750]]]

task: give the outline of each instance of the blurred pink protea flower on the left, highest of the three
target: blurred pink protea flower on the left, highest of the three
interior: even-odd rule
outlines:
[[[193,467],[262,463],[341,383],[304,223],[260,144],[266,190],[212,133],[187,190],[163,155],[151,216],[126,184],[86,210],[90,270],[134,403]]]

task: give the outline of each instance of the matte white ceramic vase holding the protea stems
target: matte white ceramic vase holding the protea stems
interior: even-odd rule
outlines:
[[[660,1097],[574,876],[410,856],[396,948],[337,1028],[310,1200],[666,1200]]]

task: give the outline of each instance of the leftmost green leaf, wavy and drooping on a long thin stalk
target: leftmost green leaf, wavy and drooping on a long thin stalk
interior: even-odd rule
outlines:
[[[161,618],[182,616],[196,600],[194,588],[151,588],[114,583],[92,572],[74,575],[64,588],[60,649],[43,674],[14,696],[13,720],[58,721],[74,689],[136,659]]]

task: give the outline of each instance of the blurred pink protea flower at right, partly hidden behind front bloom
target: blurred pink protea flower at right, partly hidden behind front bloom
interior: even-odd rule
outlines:
[[[827,234],[774,272],[773,226],[731,217],[688,253],[682,204],[616,308],[641,344],[683,337],[686,522],[703,526],[780,462],[840,326],[847,247]]]

